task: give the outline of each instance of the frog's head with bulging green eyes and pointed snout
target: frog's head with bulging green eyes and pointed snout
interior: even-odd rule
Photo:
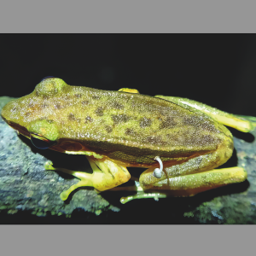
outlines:
[[[68,85],[61,79],[43,79],[35,90],[3,107],[3,119],[16,131],[29,137],[38,148],[49,148],[59,138],[53,108],[47,108]]]

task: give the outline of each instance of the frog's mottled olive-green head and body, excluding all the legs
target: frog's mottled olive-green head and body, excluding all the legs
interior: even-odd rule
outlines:
[[[61,79],[45,79],[30,95],[9,102],[2,116],[25,136],[35,132],[57,141],[51,149],[93,151],[126,166],[157,165],[156,155],[163,162],[188,160],[224,141],[233,148],[230,131],[193,108]]]

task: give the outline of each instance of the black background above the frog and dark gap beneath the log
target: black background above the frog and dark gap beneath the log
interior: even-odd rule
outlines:
[[[135,88],[150,96],[181,96],[226,112],[256,116],[254,34],[1,34],[0,45],[0,96],[25,96],[41,79],[55,76],[71,85]],[[234,193],[239,192],[234,188]],[[137,212],[142,201],[132,201],[123,206],[119,217],[108,212],[101,218],[93,213],[86,216],[90,223],[117,223],[116,218],[118,223],[172,223],[179,211],[182,216],[183,207],[232,191],[173,199],[170,205],[165,200],[145,200],[143,212]],[[104,196],[111,201],[112,195]],[[166,211],[181,202],[183,207],[176,212]],[[146,218],[145,212],[151,214]],[[73,216],[81,223],[84,212]],[[61,221],[67,223],[67,218]]]

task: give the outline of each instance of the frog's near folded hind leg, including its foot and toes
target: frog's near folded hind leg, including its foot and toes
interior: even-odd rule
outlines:
[[[207,162],[212,161],[210,170]],[[154,176],[154,168],[143,172],[140,182],[134,188],[114,188],[114,190],[137,191],[136,195],[121,198],[121,203],[134,199],[159,198],[167,196],[193,196],[209,189],[217,189],[231,183],[241,183],[247,179],[247,172],[241,167],[214,169],[218,164],[218,154],[208,154],[191,159],[177,166],[166,166],[162,177]],[[167,176],[167,177],[166,177]]]

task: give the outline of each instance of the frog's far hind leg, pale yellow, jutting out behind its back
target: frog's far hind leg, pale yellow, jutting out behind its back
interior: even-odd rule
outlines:
[[[156,96],[156,97],[163,98],[169,102],[174,102],[177,105],[180,105],[184,108],[186,108],[186,106],[195,108],[211,116],[212,119],[215,119],[219,123],[233,127],[238,131],[248,132],[254,129],[254,125],[252,122],[237,118],[236,115],[234,114],[226,113],[217,108],[212,108],[201,102],[195,102],[193,100],[175,97],[175,96]]]

